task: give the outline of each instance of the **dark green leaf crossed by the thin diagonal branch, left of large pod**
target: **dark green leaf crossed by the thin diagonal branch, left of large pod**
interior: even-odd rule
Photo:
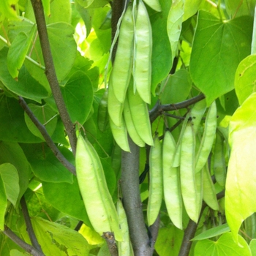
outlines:
[[[46,143],[22,144],[21,146],[31,165],[34,175],[41,181],[68,182],[72,184],[72,173],[59,162]],[[59,150],[69,162],[75,164],[71,151],[60,146]]]

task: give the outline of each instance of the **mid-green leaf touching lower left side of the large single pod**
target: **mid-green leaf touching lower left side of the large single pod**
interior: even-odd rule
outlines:
[[[53,207],[64,214],[83,220],[87,226],[91,227],[91,222],[89,221],[86,208],[84,207],[83,199],[80,194],[77,178],[74,177],[73,184],[66,182],[53,183],[43,181],[42,189],[46,200],[48,200]],[[58,197],[56,197],[56,195],[58,195]]]

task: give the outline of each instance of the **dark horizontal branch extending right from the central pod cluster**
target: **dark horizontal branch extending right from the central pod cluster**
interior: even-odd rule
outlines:
[[[181,108],[187,108],[189,107],[189,105],[193,105],[204,98],[205,96],[203,94],[199,94],[196,97],[185,100],[184,102],[178,102],[175,104],[166,104],[166,105],[160,105],[158,101],[157,104],[154,105],[154,108],[152,108],[149,111],[150,121],[151,123],[153,123],[154,120],[156,120],[157,117],[162,115],[162,113],[165,111],[172,111],[172,110],[178,110]]]

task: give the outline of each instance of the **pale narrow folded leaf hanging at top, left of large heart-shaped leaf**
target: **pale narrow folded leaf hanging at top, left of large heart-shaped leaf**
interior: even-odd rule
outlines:
[[[167,34],[170,40],[170,47],[172,49],[172,59],[176,56],[178,39],[181,34],[184,2],[185,0],[173,1],[167,18]]]

